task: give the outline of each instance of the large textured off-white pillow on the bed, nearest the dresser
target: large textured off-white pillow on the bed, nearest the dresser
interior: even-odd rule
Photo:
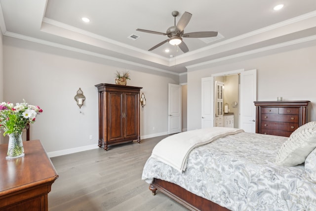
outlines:
[[[316,122],[309,122],[297,128],[283,143],[275,163],[282,166],[296,166],[304,163],[316,147]]]

